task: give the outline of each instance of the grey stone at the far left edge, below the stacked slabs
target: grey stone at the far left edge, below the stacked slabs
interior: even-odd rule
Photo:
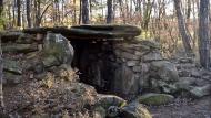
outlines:
[[[18,61],[13,60],[3,60],[3,71],[18,75],[22,74],[21,64]]]

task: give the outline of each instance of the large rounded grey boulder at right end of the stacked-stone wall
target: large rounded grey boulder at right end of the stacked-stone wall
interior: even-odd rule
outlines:
[[[168,61],[152,62],[150,69],[152,71],[150,74],[154,78],[159,78],[164,82],[177,82],[179,79],[175,65]]]

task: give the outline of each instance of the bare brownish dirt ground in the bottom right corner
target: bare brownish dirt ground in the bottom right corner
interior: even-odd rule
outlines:
[[[172,105],[149,107],[153,118],[211,118],[211,96],[177,99]]]

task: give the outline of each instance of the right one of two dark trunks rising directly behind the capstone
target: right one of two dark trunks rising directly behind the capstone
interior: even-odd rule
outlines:
[[[108,11],[107,11],[107,23],[112,23],[112,18],[113,18],[113,3],[112,0],[107,0],[107,7],[108,7]]]

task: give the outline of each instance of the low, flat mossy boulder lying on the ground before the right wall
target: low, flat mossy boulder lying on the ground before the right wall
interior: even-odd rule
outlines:
[[[165,105],[174,99],[173,96],[168,94],[149,93],[138,98],[138,101],[145,105]]]

